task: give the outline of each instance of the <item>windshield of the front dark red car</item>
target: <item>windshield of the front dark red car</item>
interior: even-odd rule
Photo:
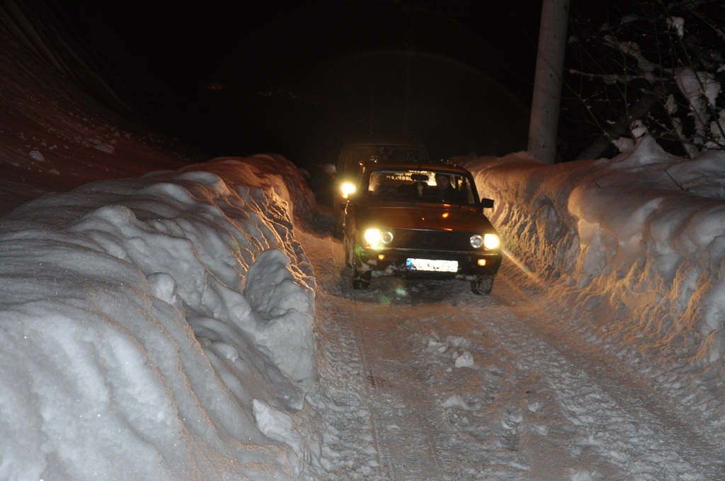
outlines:
[[[467,176],[436,170],[375,170],[370,173],[368,196],[376,201],[476,204]]]

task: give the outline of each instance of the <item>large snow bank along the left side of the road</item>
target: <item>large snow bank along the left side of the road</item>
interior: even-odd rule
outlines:
[[[215,159],[1,219],[0,479],[304,476],[303,185],[279,156]]]

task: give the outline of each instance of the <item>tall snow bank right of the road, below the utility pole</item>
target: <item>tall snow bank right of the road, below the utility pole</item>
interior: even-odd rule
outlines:
[[[718,378],[723,166],[723,151],[688,161],[649,136],[614,159],[547,165],[518,153],[466,164],[481,196],[496,200],[492,220],[510,260],[589,311],[595,322],[581,322],[581,330],[635,361],[659,359],[669,364],[663,370],[682,362]],[[695,390],[698,402],[722,409]]]

